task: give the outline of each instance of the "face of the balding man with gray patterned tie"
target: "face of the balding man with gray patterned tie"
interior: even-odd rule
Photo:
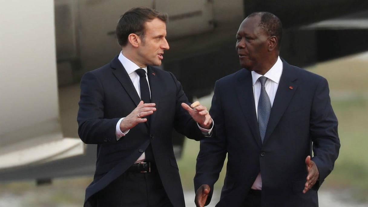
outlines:
[[[260,23],[259,15],[245,18],[236,34],[236,50],[242,67],[264,75],[275,64],[277,56],[274,60],[272,38],[275,36],[267,35],[258,26]]]

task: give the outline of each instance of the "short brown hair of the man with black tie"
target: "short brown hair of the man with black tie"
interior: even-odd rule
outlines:
[[[128,36],[132,33],[144,39],[145,22],[152,21],[155,18],[159,18],[165,23],[168,20],[167,14],[149,7],[135,7],[125,12],[116,25],[116,37],[119,45],[127,45]]]

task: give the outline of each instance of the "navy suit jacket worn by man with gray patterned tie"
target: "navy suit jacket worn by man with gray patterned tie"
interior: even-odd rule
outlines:
[[[210,114],[216,137],[201,141],[194,178],[196,190],[202,184],[211,187],[207,204],[227,154],[226,177],[217,206],[241,206],[259,172],[262,207],[318,206],[317,190],[332,171],[340,148],[325,78],[283,60],[263,144],[250,71],[241,69],[216,81]],[[319,182],[303,194],[305,158],[312,150]]]

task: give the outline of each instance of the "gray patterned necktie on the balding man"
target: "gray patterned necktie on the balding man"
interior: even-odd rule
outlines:
[[[266,92],[265,83],[267,78],[261,76],[258,78],[259,82],[261,82],[261,94],[259,95],[258,101],[258,127],[259,134],[261,134],[261,141],[263,143],[263,139],[265,138],[268,118],[271,113],[271,102],[268,94]]]

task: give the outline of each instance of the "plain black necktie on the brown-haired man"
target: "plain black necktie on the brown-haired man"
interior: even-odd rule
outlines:
[[[138,76],[140,77],[139,85],[141,88],[141,100],[145,103],[151,103],[151,95],[149,92],[149,87],[148,87],[148,83],[146,79],[146,71],[140,68],[140,69],[135,70],[135,72],[137,72]],[[151,121],[151,116],[146,116],[146,119],[149,125]],[[149,144],[148,147],[146,148],[145,155],[146,155],[146,161],[150,161],[150,162],[153,161],[153,152],[152,152],[151,144]]]

